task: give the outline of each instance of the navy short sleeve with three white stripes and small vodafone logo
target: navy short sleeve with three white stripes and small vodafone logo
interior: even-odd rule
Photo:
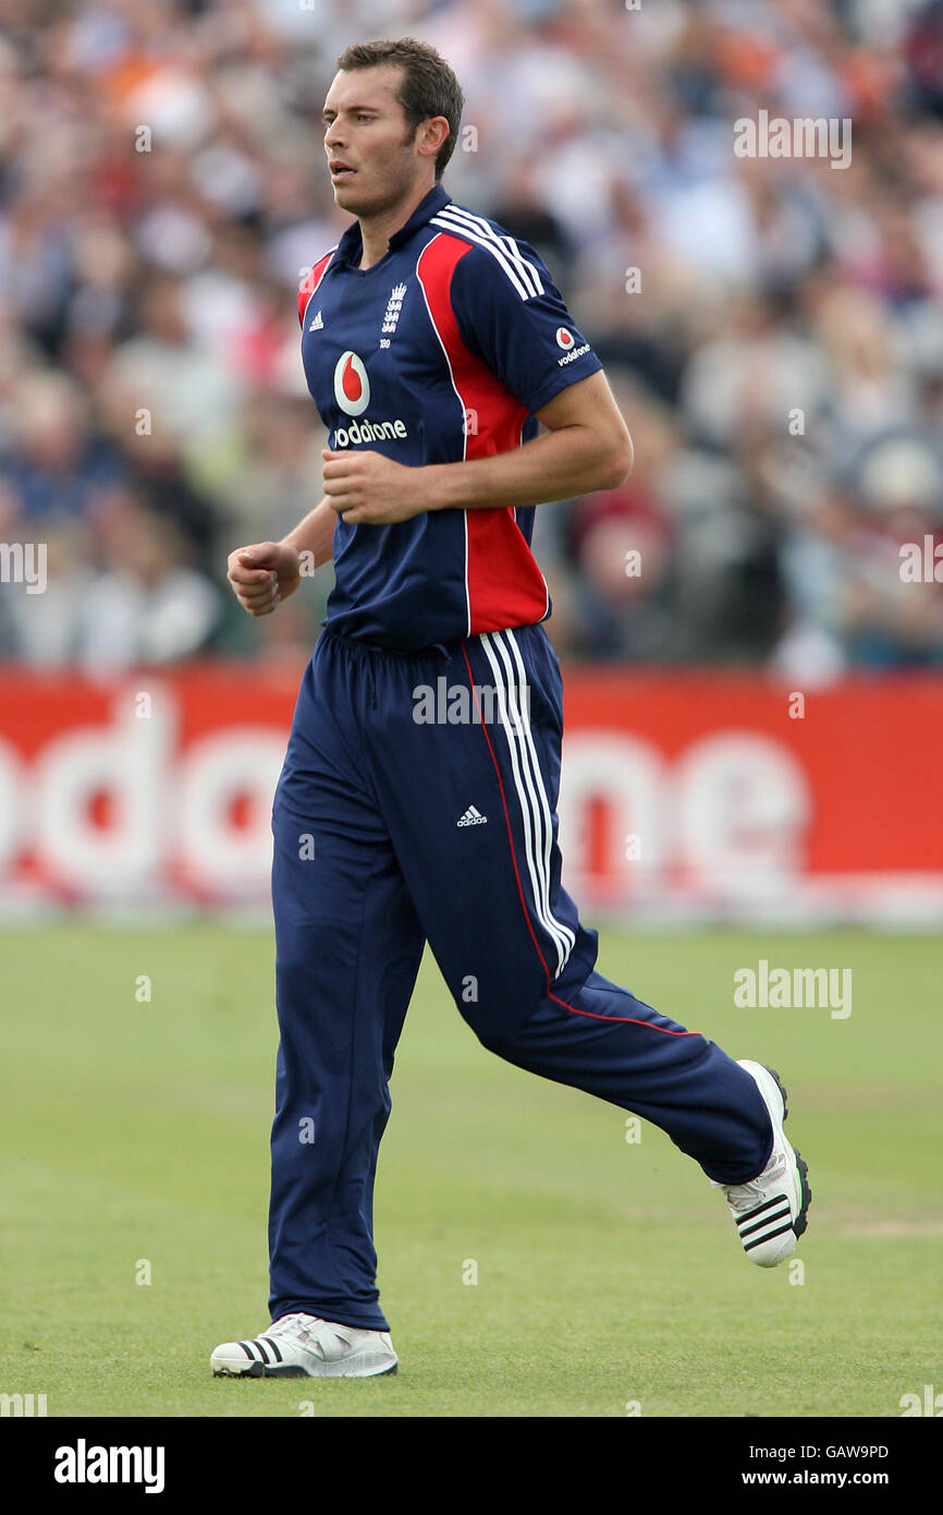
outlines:
[[[498,233],[477,242],[450,292],[462,341],[531,415],[602,368],[530,242]]]

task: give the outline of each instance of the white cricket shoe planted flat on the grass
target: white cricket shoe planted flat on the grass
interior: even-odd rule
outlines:
[[[218,1379],[372,1379],[397,1371],[386,1330],[282,1315],[250,1341],[224,1341],[209,1365]]]

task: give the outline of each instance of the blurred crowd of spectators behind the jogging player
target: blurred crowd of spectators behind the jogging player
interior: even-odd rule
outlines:
[[[381,35],[451,62],[443,186],[546,259],[633,433],[537,512],[559,651],[940,665],[901,545],[943,542],[943,0],[0,0],[0,542],[48,544],[0,656],[310,647],[330,570],[250,621],[226,561],[321,497],[295,291]],[[851,120],[849,167],[737,156],[760,111]]]

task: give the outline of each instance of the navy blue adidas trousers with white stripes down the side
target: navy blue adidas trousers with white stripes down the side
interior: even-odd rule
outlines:
[[[418,654],[316,644],[272,807],[272,1320],[387,1329],[374,1174],[427,941],[500,1057],[652,1121],[719,1182],[769,1160],[749,1074],[595,971],[560,883],[562,695],[542,626]]]

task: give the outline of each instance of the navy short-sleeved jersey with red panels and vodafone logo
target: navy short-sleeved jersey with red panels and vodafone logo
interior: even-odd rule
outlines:
[[[304,374],[331,448],[409,467],[506,453],[537,435],[534,411],[602,367],[533,247],[440,186],[378,264],[359,270],[360,253],[354,221],[298,292]],[[338,518],[328,627],[410,651],[542,621],[533,514]]]

